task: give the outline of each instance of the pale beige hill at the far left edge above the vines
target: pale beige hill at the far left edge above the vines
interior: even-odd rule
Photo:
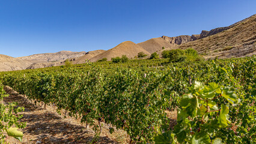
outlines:
[[[23,70],[31,65],[31,62],[22,61],[7,55],[0,55],[0,71]]]

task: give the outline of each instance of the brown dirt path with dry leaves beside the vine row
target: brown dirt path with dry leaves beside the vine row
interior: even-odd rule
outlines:
[[[26,122],[26,128],[21,130],[24,134],[22,143],[90,143],[93,139],[94,131],[81,125],[79,121],[74,121],[73,118],[64,118],[50,106],[47,106],[46,109],[36,106],[24,95],[18,94],[8,86],[5,86],[4,89],[9,94],[9,97],[4,98],[5,103],[17,102],[18,106],[25,107],[25,111],[21,113],[23,118],[20,119],[20,121]],[[13,137],[8,137],[7,141],[20,143]],[[97,143],[118,142],[109,138],[108,134],[101,134]]]

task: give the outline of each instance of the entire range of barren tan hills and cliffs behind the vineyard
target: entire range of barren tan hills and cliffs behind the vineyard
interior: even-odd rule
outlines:
[[[162,36],[151,38],[142,43],[135,44],[132,41],[124,41],[109,50],[94,50],[91,52],[61,51],[57,53],[41,53],[31,56],[13,58],[0,55],[0,71],[24,70],[29,68],[52,67],[64,65],[69,59],[73,64],[82,64],[85,61],[96,62],[107,58],[108,61],[116,56],[126,55],[134,58],[139,52],[146,55],[157,52],[162,53],[170,49],[194,48],[204,58],[232,58],[251,56],[256,54],[256,14],[233,25],[202,31],[201,34],[180,35],[177,37]]]

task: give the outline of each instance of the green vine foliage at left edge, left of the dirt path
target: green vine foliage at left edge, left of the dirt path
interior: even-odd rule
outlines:
[[[0,83],[0,101],[2,101],[4,97],[8,97],[8,95],[5,94],[4,88]],[[16,103],[7,105],[0,103],[0,143],[5,143],[6,136],[4,135],[4,131],[8,136],[14,137],[22,142],[23,133],[17,131],[17,129],[24,128],[26,123],[18,122],[19,119],[22,118],[22,115],[17,113],[22,112],[24,107],[14,107],[16,107]],[[12,127],[13,125],[16,125],[16,127]]]

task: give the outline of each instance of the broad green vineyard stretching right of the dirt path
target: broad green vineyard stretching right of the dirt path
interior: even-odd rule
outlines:
[[[130,143],[256,143],[256,56],[94,62],[1,72],[0,80],[98,135],[101,122],[122,129]],[[166,110],[178,110],[174,128]]]

